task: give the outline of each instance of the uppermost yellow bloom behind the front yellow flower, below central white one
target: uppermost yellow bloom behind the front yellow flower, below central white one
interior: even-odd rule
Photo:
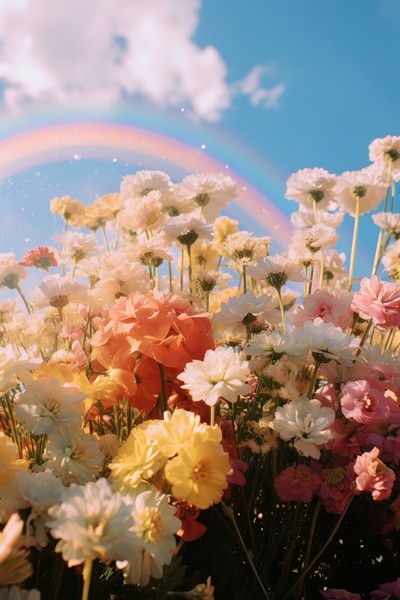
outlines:
[[[166,411],[164,421],[154,421],[147,429],[148,438],[157,442],[160,451],[167,458],[178,454],[190,443],[196,432],[207,435],[216,444],[221,442],[222,432],[219,427],[201,423],[199,415],[181,408],[175,409],[173,413]]]

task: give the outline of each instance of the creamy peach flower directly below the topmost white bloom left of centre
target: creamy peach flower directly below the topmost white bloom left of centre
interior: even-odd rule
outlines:
[[[127,200],[125,208],[117,215],[117,223],[130,231],[158,229],[165,221],[162,208],[161,192],[152,190],[146,196]]]

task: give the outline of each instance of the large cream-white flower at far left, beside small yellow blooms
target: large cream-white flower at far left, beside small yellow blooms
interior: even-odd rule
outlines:
[[[34,435],[51,434],[81,426],[85,395],[59,379],[23,376],[25,391],[15,398],[15,414]]]

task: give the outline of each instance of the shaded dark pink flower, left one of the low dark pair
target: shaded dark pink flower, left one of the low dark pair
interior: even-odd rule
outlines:
[[[321,479],[306,465],[284,469],[274,482],[279,498],[285,502],[311,502],[320,484]]]

